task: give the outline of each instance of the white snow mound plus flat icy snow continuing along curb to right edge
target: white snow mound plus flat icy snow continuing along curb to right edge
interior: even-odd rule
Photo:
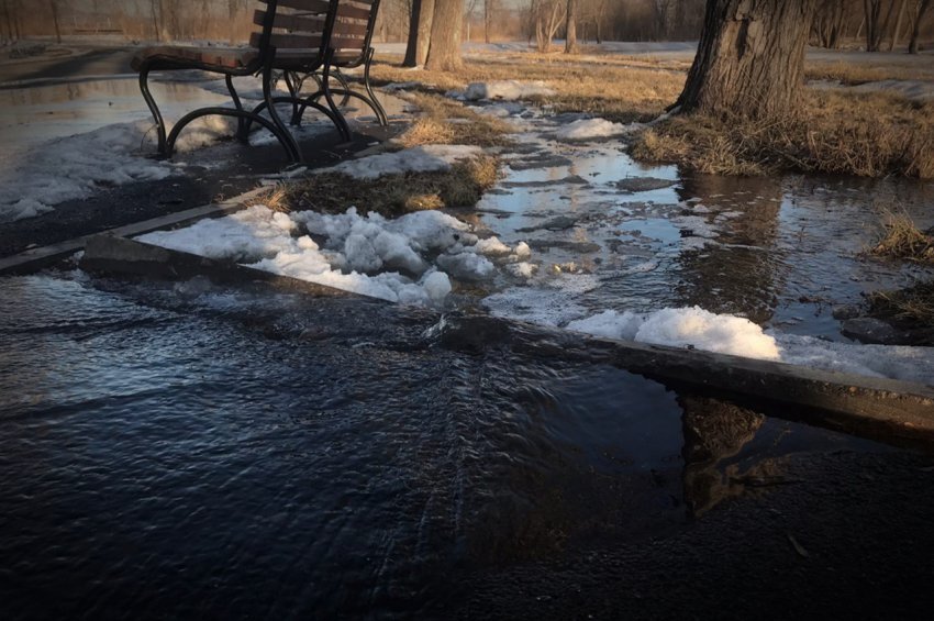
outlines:
[[[570,321],[568,330],[671,347],[696,347],[809,368],[934,384],[934,348],[831,343],[811,336],[767,334],[752,321],[701,308],[647,314],[609,310]]]

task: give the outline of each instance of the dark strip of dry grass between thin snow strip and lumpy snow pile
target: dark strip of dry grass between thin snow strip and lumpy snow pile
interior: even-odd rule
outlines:
[[[480,156],[459,162],[446,171],[386,175],[377,179],[311,175],[277,187],[258,202],[286,212],[343,213],[356,207],[360,213],[375,211],[397,218],[412,211],[476,204],[497,182],[499,169],[496,157]]]

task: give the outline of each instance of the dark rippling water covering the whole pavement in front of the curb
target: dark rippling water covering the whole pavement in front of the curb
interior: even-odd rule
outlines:
[[[929,457],[601,365],[458,354],[413,308],[0,287],[7,618],[740,618],[790,590],[843,611],[867,584],[897,611],[929,592]],[[743,606],[711,608],[740,575]]]

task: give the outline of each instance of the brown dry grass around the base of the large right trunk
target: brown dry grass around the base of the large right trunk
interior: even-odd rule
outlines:
[[[781,170],[934,178],[934,103],[886,95],[808,91],[781,119],[675,117],[645,132],[635,157],[716,175]]]

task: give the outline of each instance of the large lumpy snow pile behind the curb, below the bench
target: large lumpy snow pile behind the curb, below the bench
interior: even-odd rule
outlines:
[[[510,265],[529,255],[525,244],[511,248],[496,237],[481,241],[468,224],[437,211],[387,220],[377,213],[360,217],[353,208],[327,215],[276,213],[254,206],[138,240],[392,302],[424,306],[444,302],[452,290],[448,275],[487,280],[496,275],[491,257]]]

